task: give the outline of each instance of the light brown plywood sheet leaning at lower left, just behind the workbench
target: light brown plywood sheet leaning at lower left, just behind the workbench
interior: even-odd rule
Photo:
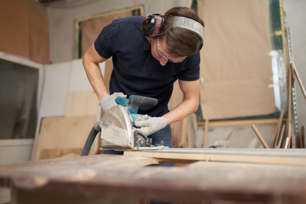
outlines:
[[[54,157],[67,157],[69,152],[62,153],[65,149],[70,149],[70,156],[75,156],[73,154],[75,149],[83,149],[95,122],[96,116],[44,118],[40,134],[36,139],[33,159],[40,160],[43,157],[45,159],[45,154],[50,153],[46,150],[52,150],[53,153],[49,155]]]

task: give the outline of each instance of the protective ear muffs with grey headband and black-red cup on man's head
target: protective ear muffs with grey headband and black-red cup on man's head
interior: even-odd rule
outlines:
[[[180,16],[175,16],[174,18],[175,20],[173,26],[171,26],[170,28],[185,29],[196,34],[201,39],[201,46],[200,46],[201,49],[205,33],[204,27],[199,22],[193,19],[188,19],[186,17],[180,17]],[[163,27],[163,23],[164,23],[164,18],[161,15],[152,14],[142,21],[141,31],[145,36],[148,37],[155,37],[165,34],[168,30],[164,33],[160,33]]]

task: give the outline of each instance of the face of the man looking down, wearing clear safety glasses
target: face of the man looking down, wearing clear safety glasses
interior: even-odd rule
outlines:
[[[159,61],[162,66],[165,66],[167,62],[178,63],[185,60],[185,57],[172,57],[168,52],[168,46],[165,40],[159,41],[159,38],[151,41],[151,52],[153,57]]]

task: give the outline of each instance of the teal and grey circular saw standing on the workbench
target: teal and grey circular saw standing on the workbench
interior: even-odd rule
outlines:
[[[130,96],[116,98],[118,105],[110,108],[99,122],[101,128],[101,149],[129,150],[129,149],[161,149],[163,145],[152,145],[152,138],[134,127],[134,121],[143,115],[138,114],[139,105],[155,105],[157,99]]]

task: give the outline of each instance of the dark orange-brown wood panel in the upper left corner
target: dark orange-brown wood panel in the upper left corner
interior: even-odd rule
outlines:
[[[46,8],[33,0],[0,1],[0,50],[50,63]]]

